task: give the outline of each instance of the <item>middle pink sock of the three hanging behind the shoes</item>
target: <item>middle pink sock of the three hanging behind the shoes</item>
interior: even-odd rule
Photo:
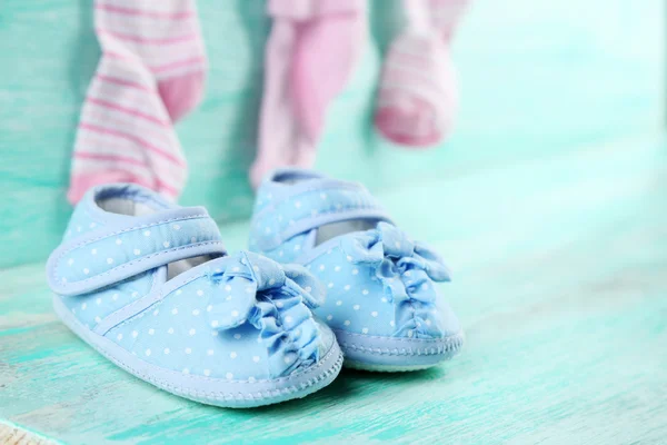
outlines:
[[[366,0],[269,0],[255,187],[278,167],[312,167],[327,109],[364,50]]]

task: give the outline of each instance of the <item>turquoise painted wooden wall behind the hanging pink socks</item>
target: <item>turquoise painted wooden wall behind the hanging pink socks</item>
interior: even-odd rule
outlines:
[[[318,168],[391,189],[613,140],[661,123],[661,0],[475,0],[455,42],[461,112],[441,149],[409,152],[370,125],[380,53],[400,0],[374,0],[366,57],[336,100]],[[70,207],[69,156],[99,58],[92,0],[0,1],[0,267],[39,261]],[[199,0],[206,99],[178,125],[191,176],[182,201],[220,221],[247,217],[255,154],[263,0]]]

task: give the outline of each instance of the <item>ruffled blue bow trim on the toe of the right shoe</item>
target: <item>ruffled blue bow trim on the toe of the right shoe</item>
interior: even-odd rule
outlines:
[[[375,270],[385,296],[396,307],[396,337],[438,338],[446,326],[437,316],[434,281],[449,281],[449,269],[430,248],[412,241],[395,226],[345,237],[341,248],[352,264]]]

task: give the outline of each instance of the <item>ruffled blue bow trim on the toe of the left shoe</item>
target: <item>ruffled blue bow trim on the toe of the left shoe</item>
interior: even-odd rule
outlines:
[[[311,308],[323,301],[323,289],[300,266],[281,266],[241,251],[211,264],[218,291],[207,313],[211,327],[227,330],[250,323],[268,352],[269,372],[279,377],[319,360],[320,333]]]

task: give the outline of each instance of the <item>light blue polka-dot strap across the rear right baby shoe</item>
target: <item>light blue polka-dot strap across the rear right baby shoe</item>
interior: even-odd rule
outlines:
[[[308,181],[256,214],[257,247],[271,250],[307,230],[355,219],[390,221],[376,198],[360,184],[334,179]]]

